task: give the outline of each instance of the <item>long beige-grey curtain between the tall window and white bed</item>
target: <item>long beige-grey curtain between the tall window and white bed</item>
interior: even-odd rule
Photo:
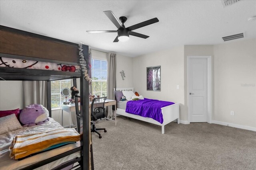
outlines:
[[[116,88],[116,54],[108,53],[108,99],[115,100],[114,90]],[[108,107],[107,117],[113,118],[112,107]]]

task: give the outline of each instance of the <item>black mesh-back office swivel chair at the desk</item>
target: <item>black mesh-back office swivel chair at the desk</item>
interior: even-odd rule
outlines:
[[[104,130],[104,132],[107,132],[107,131],[105,128],[95,128],[94,121],[105,117],[106,109],[104,105],[105,105],[106,98],[107,97],[94,98],[91,104],[91,120],[93,121],[91,132],[98,133],[99,138],[101,138],[102,136],[100,135],[98,130]]]

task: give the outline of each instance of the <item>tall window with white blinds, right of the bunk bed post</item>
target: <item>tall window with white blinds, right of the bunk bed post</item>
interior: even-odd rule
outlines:
[[[92,59],[92,95],[100,97],[107,95],[107,61]]]

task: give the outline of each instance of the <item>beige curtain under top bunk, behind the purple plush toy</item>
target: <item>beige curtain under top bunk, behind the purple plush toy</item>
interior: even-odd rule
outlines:
[[[23,81],[24,107],[42,104],[47,107],[46,81]]]

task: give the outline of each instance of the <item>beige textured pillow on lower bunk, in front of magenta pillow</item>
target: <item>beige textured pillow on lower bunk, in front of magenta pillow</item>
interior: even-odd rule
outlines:
[[[22,128],[15,114],[0,117],[0,135]]]

